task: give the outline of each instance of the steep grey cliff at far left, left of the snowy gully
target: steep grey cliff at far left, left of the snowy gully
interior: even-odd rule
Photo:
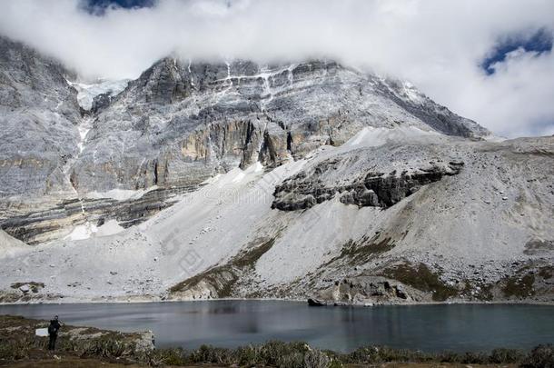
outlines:
[[[0,196],[67,194],[81,120],[61,65],[0,37]]]

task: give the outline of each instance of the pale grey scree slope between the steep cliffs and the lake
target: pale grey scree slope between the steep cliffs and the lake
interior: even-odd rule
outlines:
[[[361,134],[271,171],[235,168],[124,232],[16,246],[2,257],[0,298],[551,303],[554,137],[498,143],[402,132],[373,129],[365,145]],[[347,193],[368,173],[394,170],[395,180],[404,170],[442,176],[386,210],[343,204],[340,194],[302,211],[271,208],[275,186],[295,175]],[[404,182],[389,187],[403,195]],[[45,286],[11,287],[31,282]]]

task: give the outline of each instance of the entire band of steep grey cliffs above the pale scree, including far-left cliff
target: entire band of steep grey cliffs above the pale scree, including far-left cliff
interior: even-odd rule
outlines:
[[[0,221],[31,244],[76,225],[140,223],[216,174],[256,162],[271,169],[365,126],[489,134],[407,83],[334,62],[165,58],[118,93],[123,84],[68,82],[54,61],[4,38],[0,46]],[[123,204],[110,195],[152,190]]]

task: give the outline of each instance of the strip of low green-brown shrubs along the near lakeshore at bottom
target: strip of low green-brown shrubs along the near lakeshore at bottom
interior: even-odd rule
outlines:
[[[364,346],[351,353],[318,350],[307,343],[283,343],[271,341],[262,345],[223,349],[203,345],[197,350],[163,349],[153,352],[156,362],[176,366],[191,364],[218,364],[241,367],[279,368],[339,368],[352,365],[364,366],[383,363],[460,363],[460,364],[506,364],[527,361],[548,362],[548,352],[526,354],[515,349],[495,349],[491,353],[423,353],[407,349],[392,349],[387,346]],[[536,349],[535,349],[536,350]],[[545,359],[544,356],[547,356]],[[545,365],[542,365],[544,367]],[[529,368],[539,367],[539,365]]]

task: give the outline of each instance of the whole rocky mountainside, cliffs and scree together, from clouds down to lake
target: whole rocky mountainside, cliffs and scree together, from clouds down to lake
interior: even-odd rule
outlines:
[[[554,137],[332,61],[84,84],[0,38],[0,301],[554,301]]]

